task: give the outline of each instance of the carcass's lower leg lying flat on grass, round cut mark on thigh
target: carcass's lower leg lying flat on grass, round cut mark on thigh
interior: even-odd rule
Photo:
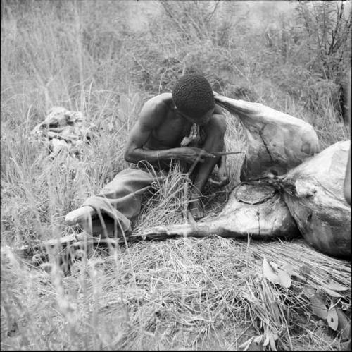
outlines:
[[[268,240],[299,236],[282,196],[269,185],[259,182],[240,183],[232,190],[220,214],[191,224],[156,226],[144,232],[145,238],[168,236],[222,237]]]

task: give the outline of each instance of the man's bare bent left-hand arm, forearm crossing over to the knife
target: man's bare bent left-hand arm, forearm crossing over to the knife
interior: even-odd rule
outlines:
[[[139,119],[132,128],[127,140],[125,160],[133,163],[146,160],[151,164],[158,164],[158,162],[170,162],[171,159],[193,163],[200,154],[203,157],[214,158],[213,154],[206,153],[196,147],[177,147],[161,150],[144,148],[153,129],[160,126],[163,122],[165,114],[168,113],[167,109],[166,105],[156,98],[152,98],[144,104]],[[204,159],[201,158],[200,162],[203,161]]]

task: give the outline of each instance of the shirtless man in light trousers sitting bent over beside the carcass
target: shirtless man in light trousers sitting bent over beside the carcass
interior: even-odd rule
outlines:
[[[144,104],[127,140],[125,159],[134,164],[148,162],[161,172],[168,171],[170,163],[175,161],[188,167],[193,181],[189,212],[199,219],[204,215],[201,192],[216,164],[219,186],[228,181],[225,162],[212,154],[224,150],[225,130],[225,116],[215,104],[206,78],[184,75],[177,80],[172,93],[163,93]],[[189,142],[196,146],[187,145]],[[125,169],[99,195],[88,198],[80,209],[70,212],[66,223],[84,225],[88,221],[86,231],[92,234],[105,231],[106,236],[116,233],[119,227],[130,231],[130,219],[140,211],[142,194],[159,177],[146,169]]]

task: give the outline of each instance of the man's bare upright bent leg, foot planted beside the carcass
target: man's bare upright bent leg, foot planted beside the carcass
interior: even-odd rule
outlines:
[[[202,149],[207,152],[222,152],[224,148],[224,135],[226,131],[225,117],[222,115],[213,115],[209,123],[204,127],[206,139]],[[194,169],[194,183],[192,188],[193,201],[189,204],[189,210],[194,219],[200,219],[204,216],[203,206],[201,205],[201,191],[206,185],[206,181],[212,173],[215,165],[219,162],[218,158],[207,158],[203,163],[199,163]]]

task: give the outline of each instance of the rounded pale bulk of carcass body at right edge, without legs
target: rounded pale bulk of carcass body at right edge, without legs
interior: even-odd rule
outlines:
[[[349,140],[337,142],[279,179],[306,241],[323,253],[351,255],[351,207],[344,198]]]

